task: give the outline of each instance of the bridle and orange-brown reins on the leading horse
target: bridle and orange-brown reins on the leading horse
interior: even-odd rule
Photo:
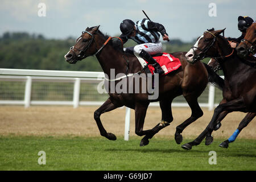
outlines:
[[[97,31],[96,31],[96,32],[97,32]],[[92,34],[92,33],[88,32],[88,31],[82,31],[82,34],[87,33],[87,34],[89,34],[90,36],[92,36],[92,38],[90,39],[89,43],[85,46],[85,48],[82,49],[82,50],[79,49],[79,48],[76,48],[75,46],[72,46],[72,47],[70,48],[71,50],[77,49],[77,51],[79,51],[79,54],[76,55],[77,57],[79,57],[80,59],[84,59],[85,57],[88,57],[88,56],[95,56],[95,55],[97,55],[97,54],[101,51],[101,49],[103,49],[103,48],[106,46],[106,44],[108,44],[108,42],[109,42],[110,39],[118,38],[118,37],[116,37],[116,36],[113,36],[113,37],[109,36],[109,38],[106,40],[106,42],[101,46],[100,49],[98,49],[98,51],[97,51],[96,53],[94,53],[94,54],[92,54],[92,55],[86,55],[87,49],[90,48],[90,44],[92,44],[92,42],[94,41],[94,34],[95,34],[96,32],[94,32],[94,33]],[[118,39],[121,40],[121,42],[122,42],[122,44],[123,44],[122,39],[121,39],[121,38],[118,38]],[[95,42],[95,41],[94,41],[94,42]],[[95,42],[95,44],[96,44],[96,42]],[[97,47],[97,44],[96,44],[96,47]]]

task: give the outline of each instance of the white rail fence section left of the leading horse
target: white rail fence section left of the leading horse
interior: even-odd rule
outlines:
[[[25,81],[24,100],[0,100],[0,105],[101,105],[102,101],[79,101],[81,82],[100,82],[104,80],[103,72],[71,72],[27,69],[0,69],[0,81]],[[72,101],[32,101],[31,88],[33,81],[40,82],[73,82]],[[1,88],[0,88],[1,89]]]

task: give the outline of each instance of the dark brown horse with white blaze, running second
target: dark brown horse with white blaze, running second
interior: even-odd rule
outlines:
[[[205,31],[197,40],[195,46],[186,54],[188,62],[192,64],[197,63],[204,57],[216,59],[220,63],[225,76],[225,85],[222,92],[223,100],[214,110],[213,117],[203,133],[192,142],[182,146],[187,150],[200,144],[205,137],[206,145],[212,143],[213,137],[211,134],[214,127],[228,113],[233,111],[247,113],[232,137],[222,143],[222,147],[228,147],[228,143],[233,142],[240,131],[256,115],[256,69],[250,66],[249,62],[251,60],[242,59],[237,55],[236,50],[229,46],[229,42],[220,35],[224,30]]]

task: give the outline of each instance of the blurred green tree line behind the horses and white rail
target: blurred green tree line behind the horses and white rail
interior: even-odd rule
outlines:
[[[0,37],[0,68],[46,69],[63,71],[102,71],[96,57],[87,57],[76,64],[65,61],[64,55],[75,44],[75,38],[46,39],[27,32],[5,32]],[[172,39],[163,43],[164,52],[188,51],[193,43]],[[131,40],[125,47],[134,46]]]

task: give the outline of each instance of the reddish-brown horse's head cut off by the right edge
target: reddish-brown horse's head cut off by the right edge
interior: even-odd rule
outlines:
[[[251,24],[247,28],[245,38],[242,39],[237,49],[237,54],[240,57],[246,57],[249,54],[254,54],[256,51],[256,23]]]

